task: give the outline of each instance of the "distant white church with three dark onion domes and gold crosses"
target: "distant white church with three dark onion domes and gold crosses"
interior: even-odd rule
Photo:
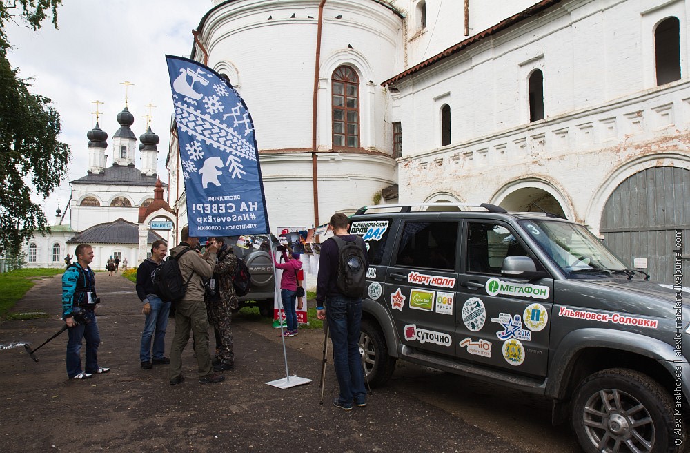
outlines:
[[[112,135],[112,165],[106,166],[108,133],[98,125],[88,131],[88,162],[85,176],[70,181],[70,219],[57,211],[50,234],[36,233],[23,247],[28,267],[64,267],[72,262],[78,244],[91,244],[95,259],[92,269],[103,270],[108,258],[127,259],[129,267],[144,260],[155,240],[168,240],[168,231],[155,231],[151,222],[172,229],[175,216],[167,199],[168,184],[157,175],[160,139],[148,130],[139,137],[141,168],[136,168],[137,137],[130,126],[134,115],[127,107],[117,114],[120,127]]]

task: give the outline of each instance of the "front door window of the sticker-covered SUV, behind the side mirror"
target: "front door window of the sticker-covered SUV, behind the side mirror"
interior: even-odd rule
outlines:
[[[495,223],[469,222],[467,271],[500,275],[506,256],[528,256],[509,229]]]

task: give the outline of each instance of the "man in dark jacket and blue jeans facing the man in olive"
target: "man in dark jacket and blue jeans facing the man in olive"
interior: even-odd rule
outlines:
[[[139,264],[137,268],[137,296],[144,303],[141,313],[146,316],[144,332],[141,333],[141,350],[139,360],[141,367],[151,369],[153,365],[166,365],[170,359],[164,354],[166,351],[166,328],[170,315],[170,302],[161,300],[155,292],[151,273],[166,258],[168,245],[165,241],[157,240],[151,245],[151,256]],[[151,359],[151,340],[153,340],[153,359]]]

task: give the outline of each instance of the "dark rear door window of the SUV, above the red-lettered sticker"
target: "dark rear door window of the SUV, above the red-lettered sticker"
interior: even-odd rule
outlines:
[[[406,222],[395,264],[417,269],[455,269],[458,222]]]

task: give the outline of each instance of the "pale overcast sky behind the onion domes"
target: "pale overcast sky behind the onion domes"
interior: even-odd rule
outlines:
[[[52,99],[60,114],[59,137],[72,150],[69,176],[60,189],[40,202],[49,223],[55,220],[58,199],[65,209],[70,197],[70,180],[86,176],[88,139],[86,133],[96,122],[108,133],[108,166],[112,165],[111,137],[119,128],[115,117],[125,106],[125,88],[130,81],[128,108],[135,117],[132,131],[146,132],[147,104],[153,104],[152,130],[161,137],[158,169],[168,182],[165,168],[168,152],[172,95],[165,55],[188,57],[192,48],[191,30],[211,8],[210,0],[64,0],[58,9],[59,30],[46,19],[38,32],[8,25],[13,50],[10,64],[20,68],[20,76],[31,77],[32,93]],[[137,141],[137,146],[139,142]],[[137,168],[141,168],[137,148]],[[69,213],[64,224],[69,223]]]

